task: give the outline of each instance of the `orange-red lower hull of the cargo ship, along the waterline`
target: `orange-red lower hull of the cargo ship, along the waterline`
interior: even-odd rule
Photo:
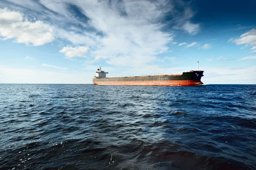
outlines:
[[[204,84],[201,80],[163,80],[163,81],[119,81],[119,82],[93,82],[95,85],[154,85],[154,86],[193,86]]]

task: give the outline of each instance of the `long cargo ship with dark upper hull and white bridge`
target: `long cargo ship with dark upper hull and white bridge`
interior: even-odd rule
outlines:
[[[130,77],[106,77],[108,72],[101,67],[95,72],[93,84],[95,85],[150,85],[150,86],[194,86],[202,85],[201,77],[204,71],[188,71],[183,74],[154,75],[154,76],[130,76]]]

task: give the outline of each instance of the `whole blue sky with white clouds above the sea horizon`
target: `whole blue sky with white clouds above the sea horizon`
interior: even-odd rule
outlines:
[[[204,71],[256,84],[256,0],[0,0],[0,83]]]

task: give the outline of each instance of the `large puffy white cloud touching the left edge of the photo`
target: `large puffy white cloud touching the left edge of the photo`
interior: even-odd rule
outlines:
[[[53,28],[42,21],[29,22],[23,14],[0,8],[0,36],[26,45],[43,45],[54,40]]]

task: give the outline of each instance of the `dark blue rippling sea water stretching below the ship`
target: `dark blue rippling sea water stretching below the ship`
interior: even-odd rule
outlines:
[[[256,85],[0,85],[0,169],[256,169]]]

